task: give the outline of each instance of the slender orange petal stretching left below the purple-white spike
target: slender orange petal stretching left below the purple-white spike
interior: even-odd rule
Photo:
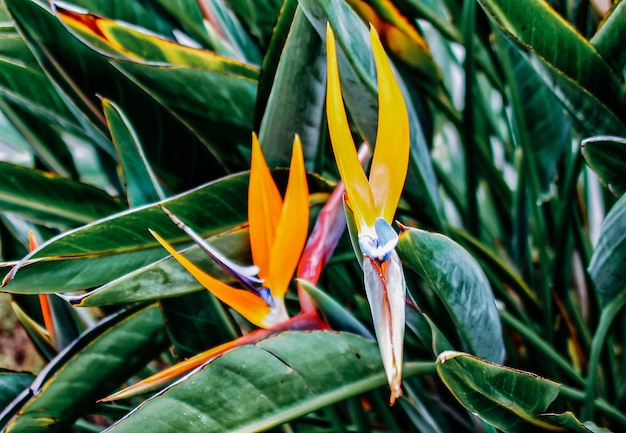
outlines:
[[[271,326],[268,324],[268,317],[271,317],[270,307],[257,295],[246,292],[245,290],[233,289],[220,280],[213,278],[209,274],[202,271],[196,265],[191,263],[186,257],[179,254],[173,246],[154,231],[150,230],[154,238],[174,257],[196,280],[207,290],[209,290],[217,299],[237,311],[247,320],[259,326],[266,328]]]

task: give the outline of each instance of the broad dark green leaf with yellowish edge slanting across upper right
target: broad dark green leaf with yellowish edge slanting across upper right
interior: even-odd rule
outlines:
[[[526,55],[561,103],[593,134],[624,135],[626,91],[620,78],[543,0],[479,0]]]

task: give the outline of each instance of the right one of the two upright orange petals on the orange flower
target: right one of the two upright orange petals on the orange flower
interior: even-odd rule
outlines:
[[[300,137],[293,142],[293,154],[289,167],[289,181],[276,237],[270,255],[269,274],[265,285],[274,298],[282,298],[293,276],[309,228],[309,188],[304,170],[304,157]]]

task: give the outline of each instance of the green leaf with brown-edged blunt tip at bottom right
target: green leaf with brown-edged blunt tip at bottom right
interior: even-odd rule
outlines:
[[[437,373],[467,410],[507,433],[562,431],[557,424],[589,431],[569,415],[543,415],[559,394],[556,382],[452,351],[439,355]]]

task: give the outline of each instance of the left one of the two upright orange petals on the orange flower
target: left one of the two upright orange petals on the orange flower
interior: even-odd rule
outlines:
[[[259,268],[259,277],[267,278],[276,227],[283,201],[267,167],[256,134],[252,135],[252,162],[248,186],[248,221],[252,261]]]

